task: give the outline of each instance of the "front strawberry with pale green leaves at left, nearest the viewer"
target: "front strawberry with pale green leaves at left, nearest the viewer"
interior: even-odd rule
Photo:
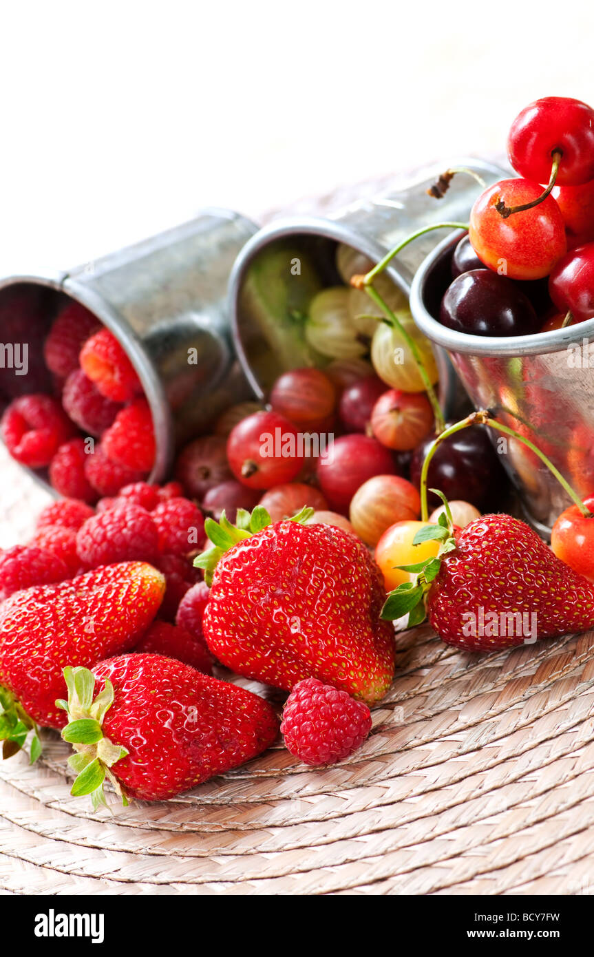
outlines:
[[[97,807],[108,777],[126,795],[164,800],[250,761],[278,733],[270,704],[161,655],[123,655],[93,671],[65,668],[74,744],[72,793]],[[97,693],[92,702],[94,691]]]

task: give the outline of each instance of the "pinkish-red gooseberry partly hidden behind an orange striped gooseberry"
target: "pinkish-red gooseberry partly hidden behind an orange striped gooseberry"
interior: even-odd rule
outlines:
[[[319,457],[317,475],[330,507],[346,512],[364,481],[395,472],[394,459],[383,445],[368,435],[353,433],[337,438],[328,455]]]

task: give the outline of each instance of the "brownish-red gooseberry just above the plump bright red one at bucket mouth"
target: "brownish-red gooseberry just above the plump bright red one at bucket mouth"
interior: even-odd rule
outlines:
[[[270,393],[275,412],[304,429],[330,429],[336,400],[334,384],[319,368],[283,372]]]

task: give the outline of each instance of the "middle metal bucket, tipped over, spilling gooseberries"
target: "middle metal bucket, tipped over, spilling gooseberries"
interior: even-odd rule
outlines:
[[[475,159],[458,160],[451,166],[473,168],[488,184],[496,182],[506,172],[494,164]],[[296,256],[306,256],[314,263],[322,287],[341,283],[336,267],[339,244],[350,246],[372,262],[378,262],[407,235],[422,226],[442,220],[466,221],[478,189],[471,177],[455,177],[444,199],[435,200],[427,195],[427,189],[445,168],[426,171],[423,178],[404,189],[354,202],[329,217],[277,220],[246,243],[231,274],[230,313],[239,361],[259,399],[266,398],[280,372],[302,364],[297,351],[295,357],[290,355],[282,362],[278,350],[270,341],[267,342],[265,336],[254,336],[258,320],[254,314],[251,287],[265,257],[278,253],[273,281],[284,284],[287,290],[293,290],[294,301],[298,299],[295,290],[298,290],[299,277],[291,273],[291,262]],[[436,231],[411,243],[385,270],[405,295],[409,295],[414,273],[435,246],[439,235]],[[286,300],[289,299],[287,293]],[[435,358],[440,375],[442,406],[447,414],[451,414],[458,405],[462,390],[447,354],[437,348]]]

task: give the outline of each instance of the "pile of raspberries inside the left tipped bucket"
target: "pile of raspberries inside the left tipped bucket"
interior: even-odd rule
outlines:
[[[70,302],[46,335],[43,359],[48,391],[13,398],[2,417],[11,456],[47,469],[60,495],[91,504],[146,479],[155,460],[152,415],[115,336]]]

